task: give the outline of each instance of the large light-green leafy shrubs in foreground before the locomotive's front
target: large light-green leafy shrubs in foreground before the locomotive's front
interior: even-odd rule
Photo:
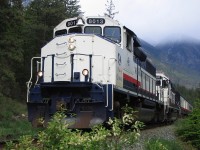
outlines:
[[[132,116],[132,114],[126,114]],[[65,120],[64,113],[56,113],[44,131],[39,132],[37,142],[33,142],[33,137],[23,136],[18,144],[8,143],[10,149],[122,149],[124,146],[131,148],[132,144],[140,136],[139,128],[141,122],[129,122],[133,124],[132,129],[124,131],[125,124],[119,119],[109,120],[111,129],[102,125],[94,126],[90,132],[69,129],[69,124]],[[126,122],[127,124],[127,122]]]

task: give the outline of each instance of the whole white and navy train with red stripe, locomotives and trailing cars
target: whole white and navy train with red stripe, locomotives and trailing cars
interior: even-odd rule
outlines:
[[[192,110],[169,78],[156,73],[136,34],[118,21],[75,17],[57,25],[41,57],[31,60],[29,121],[48,121],[64,109],[71,128],[90,128],[122,117],[126,104],[143,122],[174,121]]]

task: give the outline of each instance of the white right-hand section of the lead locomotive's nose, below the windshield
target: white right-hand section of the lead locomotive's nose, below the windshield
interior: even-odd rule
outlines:
[[[93,82],[116,85],[116,48],[106,40],[95,36],[93,40]]]

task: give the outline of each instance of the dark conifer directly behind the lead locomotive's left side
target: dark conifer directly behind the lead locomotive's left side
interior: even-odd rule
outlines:
[[[26,7],[23,33],[26,81],[30,77],[31,58],[40,56],[41,48],[53,38],[53,29],[56,25],[64,19],[78,16],[80,13],[78,2],[77,0],[34,0]]]

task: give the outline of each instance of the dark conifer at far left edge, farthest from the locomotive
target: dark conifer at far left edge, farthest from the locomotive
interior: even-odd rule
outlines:
[[[19,73],[23,60],[23,7],[21,0],[0,2],[0,90],[6,96],[20,95]],[[17,65],[16,65],[17,64]]]

